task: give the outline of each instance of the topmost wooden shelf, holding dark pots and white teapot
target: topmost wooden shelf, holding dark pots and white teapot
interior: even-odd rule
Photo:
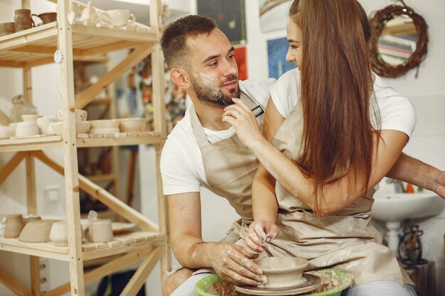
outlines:
[[[106,62],[114,50],[134,48],[157,40],[150,28],[125,31],[75,24],[73,28],[73,60]],[[58,23],[23,30],[0,37],[0,67],[33,67],[54,62],[57,50]]]

